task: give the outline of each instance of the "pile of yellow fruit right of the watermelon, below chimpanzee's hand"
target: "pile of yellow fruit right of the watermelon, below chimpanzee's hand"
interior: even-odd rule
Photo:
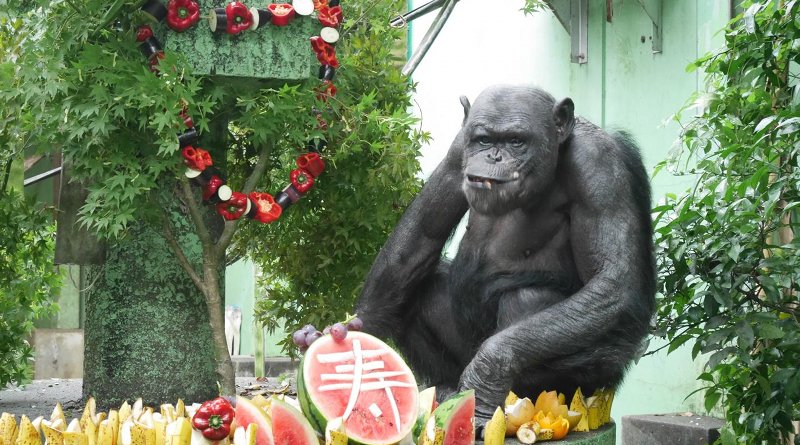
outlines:
[[[486,445],[502,445],[506,437],[523,444],[560,440],[571,431],[590,431],[611,421],[614,390],[599,389],[584,398],[581,389],[575,391],[572,403],[566,404],[563,393],[542,391],[533,403],[513,392],[506,397],[505,407],[497,407],[484,429]]]

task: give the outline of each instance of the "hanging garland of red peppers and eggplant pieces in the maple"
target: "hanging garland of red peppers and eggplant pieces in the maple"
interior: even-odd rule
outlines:
[[[200,26],[202,11],[197,0],[147,0],[142,11],[156,22],[166,22],[175,32],[183,32],[194,26]],[[213,33],[230,35],[242,32],[257,32],[265,26],[286,26],[296,18],[316,18],[322,25],[319,35],[311,37],[311,49],[320,63],[318,97],[322,101],[336,95],[333,79],[339,61],[336,58],[334,44],[339,40],[339,28],[343,16],[339,0],[295,0],[289,3],[271,3],[264,7],[248,7],[242,2],[233,1],[224,8],[208,11],[206,18]],[[136,33],[136,41],[147,59],[150,70],[158,75],[158,64],[164,57],[161,42],[153,34],[152,28],[141,24]],[[289,174],[289,184],[277,195],[266,192],[233,191],[226,181],[223,172],[214,166],[207,150],[197,146],[199,133],[189,115],[189,106],[184,104],[179,118],[186,130],[178,135],[178,144],[183,162],[186,165],[185,175],[191,183],[202,189],[203,202],[215,205],[217,213],[225,220],[233,221],[247,217],[261,223],[276,221],[289,206],[300,200],[315,183],[315,179],[325,170],[325,162],[320,150],[325,141],[310,140],[306,144],[306,153],[296,159],[297,167]],[[316,115],[318,126],[326,128],[327,123],[319,110],[312,110]]]

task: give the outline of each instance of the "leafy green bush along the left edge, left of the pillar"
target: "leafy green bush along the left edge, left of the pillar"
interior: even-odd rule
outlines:
[[[18,26],[0,20],[0,90],[11,82]],[[50,315],[60,276],[52,264],[53,225],[47,212],[12,188],[12,164],[19,159],[20,134],[14,112],[0,109],[0,388],[32,377],[32,350],[26,337],[34,320]],[[21,184],[19,184],[21,185]]]

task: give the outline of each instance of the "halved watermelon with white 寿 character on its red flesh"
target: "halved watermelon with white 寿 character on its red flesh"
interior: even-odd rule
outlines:
[[[336,342],[325,335],[306,351],[297,377],[300,406],[323,433],[341,417],[351,443],[390,445],[417,420],[417,382],[386,343],[363,332]]]

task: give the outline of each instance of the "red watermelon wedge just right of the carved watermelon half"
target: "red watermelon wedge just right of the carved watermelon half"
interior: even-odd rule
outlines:
[[[475,391],[462,391],[436,407],[418,441],[421,445],[472,445]]]

